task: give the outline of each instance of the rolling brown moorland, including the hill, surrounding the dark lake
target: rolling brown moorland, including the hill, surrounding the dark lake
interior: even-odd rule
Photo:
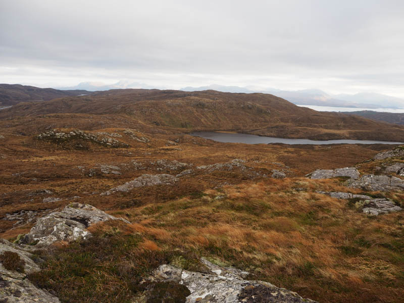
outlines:
[[[20,103],[0,111],[0,238],[16,243],[0,242],[2,266],[12,263],[0,285],[20,279],[55,302],[185,302],[177,280],[149,278],[168,264],[204,275],[234,267],[319,302],[401,301],[401,147],[220,143],[196,130],[404,142],[403,126],[261,93],[129,89]],[[308,175],[317,169],[327,171]],[[49,228],[41,217],[62,220],[78,203],[122,220],[73,219],[85,239],[66,221],[52,245],[35,236]],[[378,203],[398,211],[366,213]],[[21,252],[7,263],[2,243],[29,251],[40,271]],[[247,287],[240,301],[270,301],[262,285]]]

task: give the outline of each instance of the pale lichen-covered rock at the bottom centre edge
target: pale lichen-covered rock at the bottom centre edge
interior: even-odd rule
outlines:
[[[205,259],[201,261],[209,268],[210,274],[161,265],[153,272],[149,281],[173,282],[186,286],[190,291],[186,297],[187,303],[315,302],[268,282],[245,280],[248,272],[219,267]]]

